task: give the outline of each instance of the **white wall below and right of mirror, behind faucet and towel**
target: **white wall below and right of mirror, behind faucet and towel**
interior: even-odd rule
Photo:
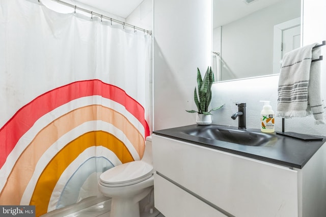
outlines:
[[[304,0],[303,42],[304,45],[326,40],[326,2],[324,0]],[[322,47],[326,56],[326,46]],[[326,80],[326,60],[322,61],[321,81]],[[238,120],[232,120],[231,115],[237,111],[236,102],[247,103],[247,127],[260,128],[259,118],[262,109],[260,100],[270,100],[276,111],[277,85],[279,76],[228,81],[213,84],[212,106],[225,103],[218,111],[214,111],[213,123],[237,126]],[[322,82],[322,94],[326,96],[326,86]],[[276,130],[281,131],[281,118],[276,119]],[[285,131],[304,134],[326,135],[326,125],[314,125],[313,117],[285,119]]]

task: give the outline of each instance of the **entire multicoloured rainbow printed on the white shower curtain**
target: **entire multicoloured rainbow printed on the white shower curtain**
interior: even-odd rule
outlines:
[[[119,111],[119,106],[112,108],[113,106],[93,104],[92,98],[98,96],[121,105],[130,116],[134,116],[134,123]],[[76,102],[80,105],[69,109]],[[3,150],[0,152],[0,167],[4,166],[7,159],[14,162],[13,165],[6,165],[12,169],[6,174],[7,181],[0,194],[0,204],[13,205],[30,200],[31,205],[36,205],[37,213],[42,214],[47,212],[50,203],[60,203],[62,195],[72,197],[63,200],[76,201],[73,197],[78,196],[76,193],[82,189],[82,184],[89,175],[103,172],[103,168],[96,171],[96,167],[82,172],[83,165],[91,159],[104,158],[104,162],[108,164],[106,167],[111,168],[120,162],[142,158],[145,144],[140,131],[145,133],[145,137],[149,135],[144,114],[144,108],[125,91],[100,80],[73,82],[37,97],[22,107],[0,130],[0,149]],[[40,119],[48,119],[47,115],[58,117],[46,123],[41,120],[44,127],[35,126]],[[106,132],[92,129],[94,123],[99,121],[107,126]],[[141,129],[135,126],[141,126]],[[40,130],[31,138],[29,131],[33,131],[33,128]],[[73,131],[78,128],[80,130],[75,132],[73,140],[67,141],[63,138],[66,134],[74,134]],[[50,153],[50,149],[57,151]],[[90,154],[85,153],[83,159],[79,159],[80,154],[86,151],[90,151]],[[94,157],[94,151],[103,154]],[[108,151],[112,153],[106,156]],[[110,155],[118,159],[110,162],[107,159]],[[76,160],[80,163],[76,164]],[[69,168],[72,164],[76,164],[75,170]],[[66,171],[68,168],[69,171]],[[76,175],[78,178],[74,177]],[[19,182],[14,181],[17,178]],[[68,187],[77,192],[67,194],[65,189]],[[33,194],[30,194],[31,190]],[[55,190],[59,190],[60,195],[53,195]]]

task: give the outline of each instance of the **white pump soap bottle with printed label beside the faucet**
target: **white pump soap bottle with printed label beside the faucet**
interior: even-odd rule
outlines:
[[[260,112],[260,130],[264,133],[274,133],[275,131],[275,113],[269,105],[269,101],[264,102],[263,110]]]

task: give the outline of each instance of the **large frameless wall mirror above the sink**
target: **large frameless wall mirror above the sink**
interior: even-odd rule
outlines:
[[[301,0],[212,0],[212,70],[226,81],[277,74],[301,46]]]

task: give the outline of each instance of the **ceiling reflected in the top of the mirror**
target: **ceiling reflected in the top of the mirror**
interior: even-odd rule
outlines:
[[[212,0],[213,28],[225,25],[255,11],[286,0],[256,0],[246,4],[244,0]]]

